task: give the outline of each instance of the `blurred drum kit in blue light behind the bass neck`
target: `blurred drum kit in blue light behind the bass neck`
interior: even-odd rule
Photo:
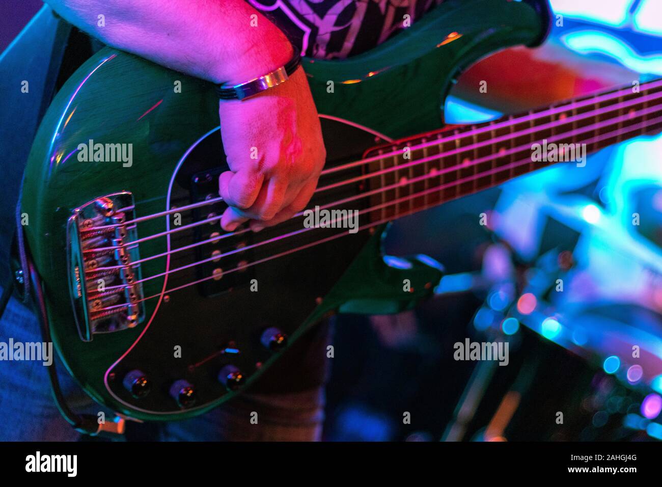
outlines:
[[[519,358],[477,364],[442,440],[662,440],[661,152],[639,138],[502,186],[481,272],[437,291],[485,297],[473,326]]]

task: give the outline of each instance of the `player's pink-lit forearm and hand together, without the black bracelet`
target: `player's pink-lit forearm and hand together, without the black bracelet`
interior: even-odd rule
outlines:
[[[252,80],[292,57],[285,34],[244,0],[45,1],[106,44],[213,83]],[[303,70],[250,99],[221,101],[218,113],[230,166],[219,180],[230,205],[222,227],[250,219],[257,231],[301,211],[325,157]]]

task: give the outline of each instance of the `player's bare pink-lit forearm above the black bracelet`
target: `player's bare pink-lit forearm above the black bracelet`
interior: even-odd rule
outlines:
[[[214,83],[256,78],[292,55],[285,34],[244,0],[45,1],[105,44]]]

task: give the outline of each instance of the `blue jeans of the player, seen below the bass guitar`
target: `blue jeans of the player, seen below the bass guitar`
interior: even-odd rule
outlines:
[[[328,330],[324,328],[314,331],[313,341],[326,346]],[[15,342],[41,341],[36,316],[15,299],[11,299],[0,319],[0,341],[7,342],[9,338]],[[306,337],[302,341],[304,345],[310,345]],[[313,350],[320,348],[324,349],[312,347]],[[308,351],[310,347],[307,347]],[[314,360],[323,363],[323,357],[324,354],[320,354]],[[57,358],[54,361],[58,362]],[[139,431],[140,439],[160,441],[316,441],[321,438],[324,421],[326,366],[318,370],[321,372],[312,379],[308,376],[303,390],[295,387],[287,392],[276,392],[267,387],[267,392],[261,392],[258,387],[260,392],[249,390],[192,419],[151,425],[131,424],[130,427],[146,431]],[[66,372],[58,372],[62,391],[74,411],[96,415],[100,409],[104,410]],[[262,378],[257,384],[260,382]],[[257,424],[251,422],[254,412],[258,413]],[[113,417],[112,411],[107,409],[105,414],[107,418]],[[51,398],[48,373],[42,362],[0,360],[0,441],[79,439],[81,434],[60,416]]]

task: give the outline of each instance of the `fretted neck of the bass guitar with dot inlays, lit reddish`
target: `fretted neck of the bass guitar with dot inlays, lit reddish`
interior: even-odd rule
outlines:
[[[637,89],[638,88],[638,89]],[[662,131],[662,80],[369,150],[371,221],[390,221]],[[376,191],[379,189],[379,191]]]

